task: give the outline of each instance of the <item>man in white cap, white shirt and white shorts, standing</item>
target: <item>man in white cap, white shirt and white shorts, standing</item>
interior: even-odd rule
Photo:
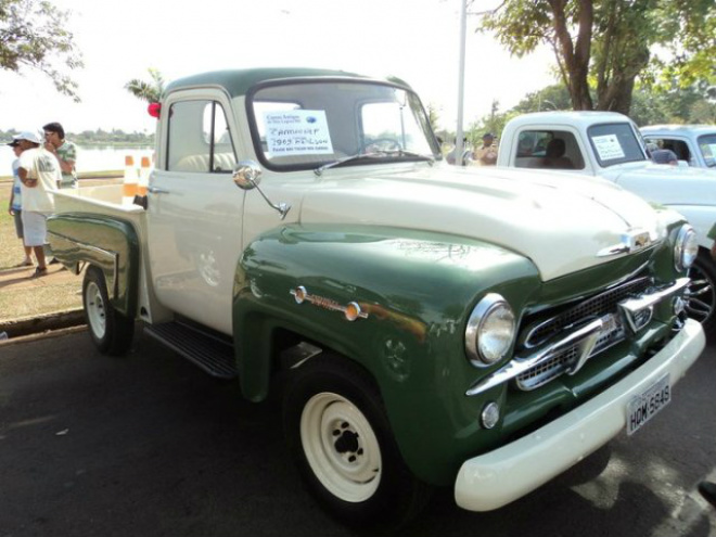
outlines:
[[[22,148],[20,181],[23,195],[25,244],[33,247],[37,267],[33,278],[47,274],[43,246],[47,242],[47,218],[54,212],[52,191],[60,188],[62,175],[57,159],[42,148],[37,133],[24,131],[13,137]]]

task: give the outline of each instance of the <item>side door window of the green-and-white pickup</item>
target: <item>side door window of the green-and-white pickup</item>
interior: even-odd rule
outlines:
[[[167,153],[169,171],[231,172],[236,157],[221,104],[208,100],[171,104]]]

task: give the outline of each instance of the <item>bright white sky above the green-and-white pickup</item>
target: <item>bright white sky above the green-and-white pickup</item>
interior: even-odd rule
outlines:
[[[226,68],[303,66],[397,76],[438,110],[438,128],[456,130],[461,0],[53,0],[72,12],[69,28],[85,68],[73,72],[81,103],[61,95],[43,75],[0,71],[0,129],[40,129],[60,122],[69,132],[122,129],[153,132],[146,105],[124,86],[167,81]],[[475,0],[487,9],[497,0]],[[510,57],[496,40],[473,31],[468,17],[463,122],[515,105],[554,84],[544,49]]]

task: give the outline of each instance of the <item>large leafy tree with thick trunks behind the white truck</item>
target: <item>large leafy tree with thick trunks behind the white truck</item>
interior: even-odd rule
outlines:
[[[637,77],[656,88],[716,81],[714,0],[503,0],[480,15],[478,30],[514,55],[550,46],[575,110],[628,114]]]

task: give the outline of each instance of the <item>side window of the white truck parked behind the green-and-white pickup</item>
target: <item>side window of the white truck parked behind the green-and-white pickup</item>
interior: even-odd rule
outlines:
[[[517,138],[517,168],[584,169],[585,161],[572,132],[523,130]]]

